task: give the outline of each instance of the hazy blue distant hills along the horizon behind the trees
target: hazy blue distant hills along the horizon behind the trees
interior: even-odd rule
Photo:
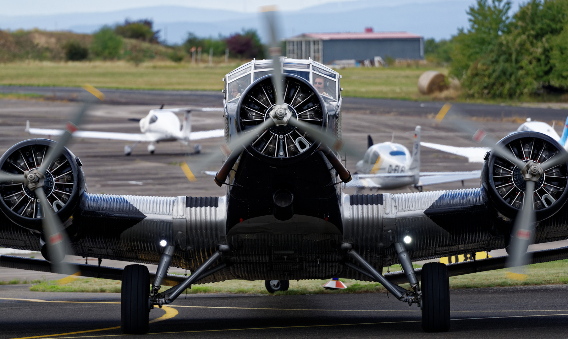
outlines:
[[[458,27],[467,26],[465,12],[472,2],[358,0],[328,3],[281,14],[285,37],[305,32],[361,32],[365,27],[373,27],[375,31],[408,31],[424,37],[447,39],[457,32]],[[153,19],[154,27],[161,29],[161,38],[166,38],[169,43],[181,43],[187,32],[194,32],[198,36],[217,36],[239,32],[243,28],[256,28],[265,39],[258,14],[181,6],[44,16],[0,16],[0,29],[40,28],[91,33],[104,24],[122,23],[126,18]]]

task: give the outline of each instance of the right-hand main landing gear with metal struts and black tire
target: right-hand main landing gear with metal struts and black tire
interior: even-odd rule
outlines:
[[[408,306],[417,304],[422,310],[422,328],[426,332],[448,332],[450,329],[450,281],[448,268],[440,262],[428,262],[421,270],[422,288],[416,278],[412,261],[404,244],[394,243],[398,260],[404,274],[410,282],[411,290],[403,289],[386,279],[359,253],[352,249],[352,244],[343,243],[341,249],[347,252],[358,265],[345,262],[345,266],[364,274],[381,285]]]

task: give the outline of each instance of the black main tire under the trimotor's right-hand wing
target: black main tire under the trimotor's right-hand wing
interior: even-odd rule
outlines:
[[[422,266],[422,329],[425,332],[448,332],[450,329],[450,278],[441,262]]]

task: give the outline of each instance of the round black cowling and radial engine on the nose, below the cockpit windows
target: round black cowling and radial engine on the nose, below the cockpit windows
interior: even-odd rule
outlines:
[[[303,78],[282,74],[284,103],[293,117],[325,129],[327,112],[318,91]],[[247,132],[269,117],[275,105],[272,78],[266,75],[247,88],[237,105],[237,124]],[[273,164],[291,164],[306,158],[318,149],[319,143],[293,125],[272,126],[258,136],[247,150],[253,156]]]

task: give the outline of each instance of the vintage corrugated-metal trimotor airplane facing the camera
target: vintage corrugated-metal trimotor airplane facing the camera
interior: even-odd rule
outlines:
[[[273,22],[274,12],[266,16]],[[460,121],[492,147],[480,188],[344,194],[341,184],[351,175],[339,158],[339,74],[312,60],[281,57],[274,25],[271,31],[272,61],[253,60],[225,78],[227,158],[214,180],[226,184],[225,196],[87,193],[81,162],[64,147],[83,107],[59,142],[30,139],[0,158],[0,245],[41,250],[52,263],[0,256],[0,265],[122,279],[124,333],[147,333],[151,309],[195,283],[328,278],[380,282],[421,308],[424,330],[444,332],[450,275],[507,266],[520,277],[517,267],[568,257],[566,248],[525,255],[529,243],[568,238],[568,153],[557,141],[517,132],[494,143]],[[315,79],[327,88],[313,86]],[[498,248],[511,255],[412,268],[412,260]],[[73,265],[61,261],[65,253],[158,268],[151,276],[137,264]],[[403,272],[382,274],[397,262]],[[170,266],[191,275],[170,276]],[[410,289],[397,285],[404,282]],[[166,284],[176,286],[160,291]]]

